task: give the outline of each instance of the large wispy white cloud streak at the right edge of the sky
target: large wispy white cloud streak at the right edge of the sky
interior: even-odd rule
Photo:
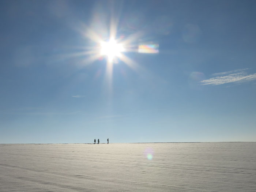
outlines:
[[[248,70],[248,68],[212,74],[216,77],[202,80],[200,81],[200,83],[202,85],[208,85],[208,84],[219,85],[219,84],[225,84],[225,83],[239,84],[239,83],[246,83],[246,82],[256,80],[256,73],[247,74],[245,72],[246,70]]]

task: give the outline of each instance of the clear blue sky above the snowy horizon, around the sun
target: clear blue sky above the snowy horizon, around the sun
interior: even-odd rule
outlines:
[[[254,1],[1,1],[0,143],[256,142],[255,18]],[[94,37],[113,24],[129,62],[108,73]]]

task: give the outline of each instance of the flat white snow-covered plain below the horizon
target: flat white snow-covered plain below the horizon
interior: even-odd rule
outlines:
[[[0,144],[0,191],[256,191],[256,143]]]

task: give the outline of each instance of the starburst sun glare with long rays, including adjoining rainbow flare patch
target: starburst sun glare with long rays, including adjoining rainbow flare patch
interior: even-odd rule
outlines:
[[[138,52],[144,54],[155,54],[159,52],[157,43],[151,41],[139,41],[143,35],[142,32],[117,34],[117,26],[118,23],[114,17],[110,18],[109,33],[104,27],[101,30],[98,30],[99,33],[97,33],[86,25],[81,25],[81,29],[78,28],[79,32],[83,37],[90,39],[89,42],[91,42],[93,46],[85,46],[81,52],[71,54],[71,56],[74,57],[86,56],[81,62],[85,65],[93,63],[96,60],[102,60],[103,56],[106,57],[106,80],[108,82],[109,90],[112,90],[112,74],[115,63],[120,61],[136,72],[143,70],[136,61],[133,61],[125,55],[125,52]],[[108,38],[106,34],[109,35],[108,41],[104,40]]]

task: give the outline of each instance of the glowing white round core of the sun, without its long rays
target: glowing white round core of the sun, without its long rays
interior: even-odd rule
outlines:
[[[111,38],[108,42],[101,42],[101,55],[108,57],[108,61],[112,62],[115,57],[120,57],[121,52],[124,52],[122,44],[118,44],[115,39]]]

